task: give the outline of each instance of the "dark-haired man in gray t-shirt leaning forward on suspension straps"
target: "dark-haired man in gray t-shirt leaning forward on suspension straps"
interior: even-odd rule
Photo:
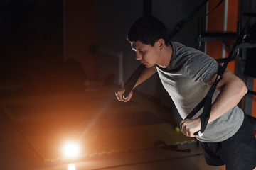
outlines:
[[[145,66],[134,88],[157,72],[184,119],[206,96],[221,66],[199,50],[169,42],[168,35],[164,23],[153,16],[137,19],[130,28],[127,40]],[[124,91],[115,94],[127,102],[132,92],[124,99]],[[228,170],[256,169],[255,137],[247,116],[237,106],[246,93],[243,81],[226,69],[213,95],[203,136],[194,135],[201,130],[202,109],[192,119],[181,121],[181,132],[199,140],[207,164]]]

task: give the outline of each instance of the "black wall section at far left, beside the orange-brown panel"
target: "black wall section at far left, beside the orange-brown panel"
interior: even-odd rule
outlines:
[[[0,79],[34,84],[63,61],[63,1],[10,0],[0,4]]]

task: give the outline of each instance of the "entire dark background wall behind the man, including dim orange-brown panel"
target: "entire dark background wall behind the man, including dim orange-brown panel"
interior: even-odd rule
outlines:
[[[65,74],[61,72],[63,62],[70,57],[78,60],[90,77],[100,76],[97,56],[92,47],[109,47],[123,52],[124,80],[127,80],[139,62],[135,60],[134,52],[125,38],[132,23],[143,15],[143,2],[1,1],[0,79],[22,79],[27,84],[41,84],[53,79],[58,81]],[[169,31],[201,3],[200,0],[151,2],[152,15],[166,23]],[[196,16],[205,13],[206,6]],[[197,47],[197,24],[197,20],[191,21],[173,40]],[[110,63],[111,59],[105,64]],[[157,75],[138,89],[155,98],[163,95]]]

